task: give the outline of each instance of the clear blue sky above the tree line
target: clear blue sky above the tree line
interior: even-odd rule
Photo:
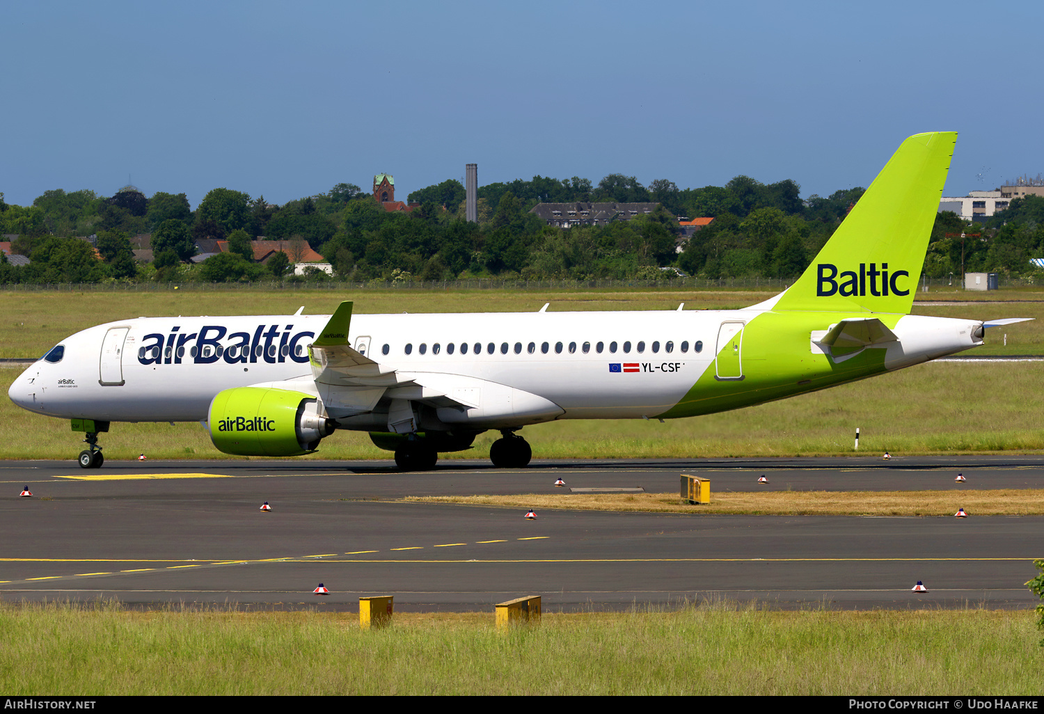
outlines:
[[[397,198],[609,173],[865,186],[908,135],[960,133],[946,195],[1044,171],[1044,6],[970,2],[0,0],[0,191],[339,182]],[[1001,127],[1004,127],[1003,130]]]

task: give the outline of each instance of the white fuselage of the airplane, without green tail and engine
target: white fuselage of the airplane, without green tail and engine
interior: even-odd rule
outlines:
[[[722,326],[772,316],[760,309],[360,314],[352,317],[349,344],[379,362],[382,372],[394,373],[390,383],[378,387],[378,397],[380,389],[410,383],[435,385],[443,394],[456,389],[467,401],[468,390],[482,380],[556,407],[520,423],[652,418],[678,405],[708,370],[722,368],[717,355],[729,339]],[[66,419],[201,421],[222,389],[288,382],[314,390],[307,348],[328,320],[329,315],[274,315],[109,323],[63,340],[61,360],[38,360],[8,394],[26,409]],[[973,347],[980,343],[971,334],[979,325],[903,316],[895,328],[900,341],[887,346],[884,364],[898,368]],[[802,327],[803,344],[813,330],[828,327],[822,317]],[[815,357],[814,346],[808,350]],[[738,341],[734,351],[740,370],[744,360],[758,359],[743,354]],[[735,376],[721,379],[731,384]],[[381,424],[346,418],[340,426],[374,430]]]

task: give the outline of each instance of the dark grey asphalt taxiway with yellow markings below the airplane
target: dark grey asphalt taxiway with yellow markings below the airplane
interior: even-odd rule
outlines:
[[[425,504],[403,496],[554,494],[571,487],[754,490],[1044,487],[1044,457],[535,461],[0,462],[0,598],[117,598],[142,608],[546,611],[685,600],[796,609],[1033,608],[1044,517],[859,518],[614,514]],[[963,473],[968,481],[953,481]],[[767,485],[757,478],[766,475]],[[555,489],[561,477],[565,489]],[[21,497],[23,486],[31,497]],[[267,501],[271,511],[260,510]],[[921,580],[927,593],[914,593]],[[324,584],[328,595],[312,590]]]

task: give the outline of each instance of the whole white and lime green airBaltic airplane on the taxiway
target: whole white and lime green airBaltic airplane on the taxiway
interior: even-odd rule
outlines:
[[[494,465],[524,467],[529,424],[693,416],[900,370],[1020,322],[909,314],[955,141],[903,142],[804,275],[743,310],[139,317],[68,337],[8,395],[86,432],[85,469],[111,422],[200,421],[230,454],[355,429],[422,470],[488,429]]]

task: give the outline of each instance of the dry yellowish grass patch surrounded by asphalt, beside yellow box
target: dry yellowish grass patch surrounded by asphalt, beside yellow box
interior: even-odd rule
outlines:
[[[714,493],[706,505],[678,494],[521,494],[518,496],[407,496],[406,501],[520,508],[571,508],[757,516],[1040,516],[1044,489],[971,491],[760,491]]]

